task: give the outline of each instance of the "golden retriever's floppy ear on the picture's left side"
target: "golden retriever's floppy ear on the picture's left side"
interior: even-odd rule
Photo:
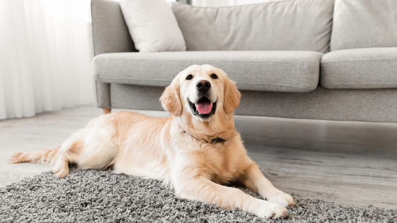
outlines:
[[[180,116],[182,113],[182,102],[179,97],[179,78],[175,78],[171,85],[165,88],[160,97],[163,108],[173,116]]]

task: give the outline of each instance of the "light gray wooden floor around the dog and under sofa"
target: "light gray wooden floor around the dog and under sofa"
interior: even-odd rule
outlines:
[[[0,186],[50,170],[8,164],[14,152],[58,146],[101,113],[81,106],[0,121]],[[248,155],[279,189],[339,204],[397,209],[397,124],[239,116],[236,127]]]

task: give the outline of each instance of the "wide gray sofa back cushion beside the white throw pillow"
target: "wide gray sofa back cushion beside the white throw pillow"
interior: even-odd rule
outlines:
[[[326,53],[333,0],[221,8],[172,5],[186,50],[311,50]]]

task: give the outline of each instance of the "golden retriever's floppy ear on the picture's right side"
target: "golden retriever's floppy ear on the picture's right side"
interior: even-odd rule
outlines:
[[[232,114],[234,109],[239,106],[241,94],[237,90],[235,82],[228,76],[224,76],[223,81],[223,109],[226,113]]]

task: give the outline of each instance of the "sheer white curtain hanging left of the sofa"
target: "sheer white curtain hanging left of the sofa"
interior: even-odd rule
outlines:
[[[0,1],[0,119],[93,102],[90,0]]]

